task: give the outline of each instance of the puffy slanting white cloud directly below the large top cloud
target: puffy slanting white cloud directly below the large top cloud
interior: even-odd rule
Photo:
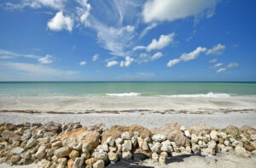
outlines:
[[[170,42],[174,41],[175,33],[169,34],[169,35],[161,35],[159,40],[153,39],[152,42],[148,45],[146,50],[150,52],[154,49],[162,49],[166,48]]]

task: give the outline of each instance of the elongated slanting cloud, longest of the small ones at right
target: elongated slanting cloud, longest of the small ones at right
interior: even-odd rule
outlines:
[[[173,65],[181,62],[181,61],[189,61],[192,59],[196,59],[200,56],[201,53],[206,53],[207,48],[198,47],[193,52],[190,53],[183,53],[179,59],[172,59],[167,63],[168,67],[172,67]]]

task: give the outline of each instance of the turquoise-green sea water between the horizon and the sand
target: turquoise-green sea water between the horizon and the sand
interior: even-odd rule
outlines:
[[[0,82],[0,97],[159,95],[256,95],[256,82]]]

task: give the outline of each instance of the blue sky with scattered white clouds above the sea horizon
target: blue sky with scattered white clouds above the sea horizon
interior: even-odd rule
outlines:
[[[4,0],[0,81],[256,81],[253,0]]]

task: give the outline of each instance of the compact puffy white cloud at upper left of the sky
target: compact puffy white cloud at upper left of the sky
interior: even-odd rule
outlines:
[[[68,16],[64,16],[62,11],[56,13],[55,17],[49,20],[47,25],[52,31],[73,30],[73,20]]]

